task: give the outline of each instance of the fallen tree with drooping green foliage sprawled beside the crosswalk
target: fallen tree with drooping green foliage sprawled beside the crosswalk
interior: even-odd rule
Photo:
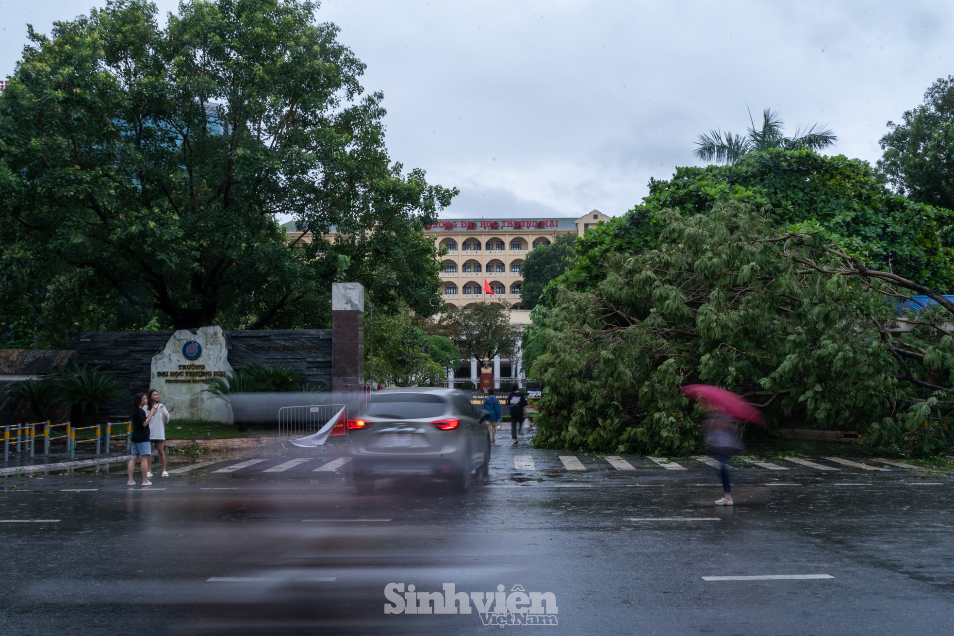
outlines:
[[[826,237],[779,236],[739,201],[663,210],[655,223],[656,248],[607,256],[589,292],[556,290],[533,370],[546,386],[535,443],[697,451],[698,413],[679,387],[702,382],[762,403],[770,424],[857,428],[866,443],[919,453],[950,444],[939,397],[950,391],[925,379],[950,386],[954,339],[927,322],[888,337],[898,312],[885,298],[898,289],[806,268],[837,269]],[[925,417],[939,422],[928,439],[908,435]]]

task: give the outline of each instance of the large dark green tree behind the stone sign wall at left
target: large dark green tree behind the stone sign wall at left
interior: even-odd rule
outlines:
[[[86,307],[114,329],[321,326],[336,280],[439,307],[423,228],[456,190],[388,158],[383,95],[317,9],[185,0],[160,27],[110,0],[30,30],[0,98],[8,338]],[[278,215],[315,240],[290,247]]]

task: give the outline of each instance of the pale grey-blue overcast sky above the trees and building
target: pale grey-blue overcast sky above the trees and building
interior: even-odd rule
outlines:
[[[27,23],[105,0],[0,0],[0,74]],[[157,0],[163,13],[177,0]],[[460,188],[444,217],[622,214],[746,108],[815,122],[874,162],[888,120],[954,74],[943,2],[325,0],[384,91],[392,159]]]

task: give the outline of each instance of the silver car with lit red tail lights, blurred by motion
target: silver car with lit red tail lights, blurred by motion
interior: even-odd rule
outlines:
[[[374,392],[360,415],[348,419],[351,461],[345,466],[359,493],[377,477],[446,477],[455,490],[471,475],[487,478],[490,434],[487,414],[470,395],[452,389],[386,389]]]

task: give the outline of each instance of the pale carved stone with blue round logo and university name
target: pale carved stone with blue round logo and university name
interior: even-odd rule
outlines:
[[[150,386],[159,392],[176,419],[231,422],[228,402],[205,391],[209,378],[231,372],[221,328],[202,327],[195,332],[179,329],[153,356]]]

